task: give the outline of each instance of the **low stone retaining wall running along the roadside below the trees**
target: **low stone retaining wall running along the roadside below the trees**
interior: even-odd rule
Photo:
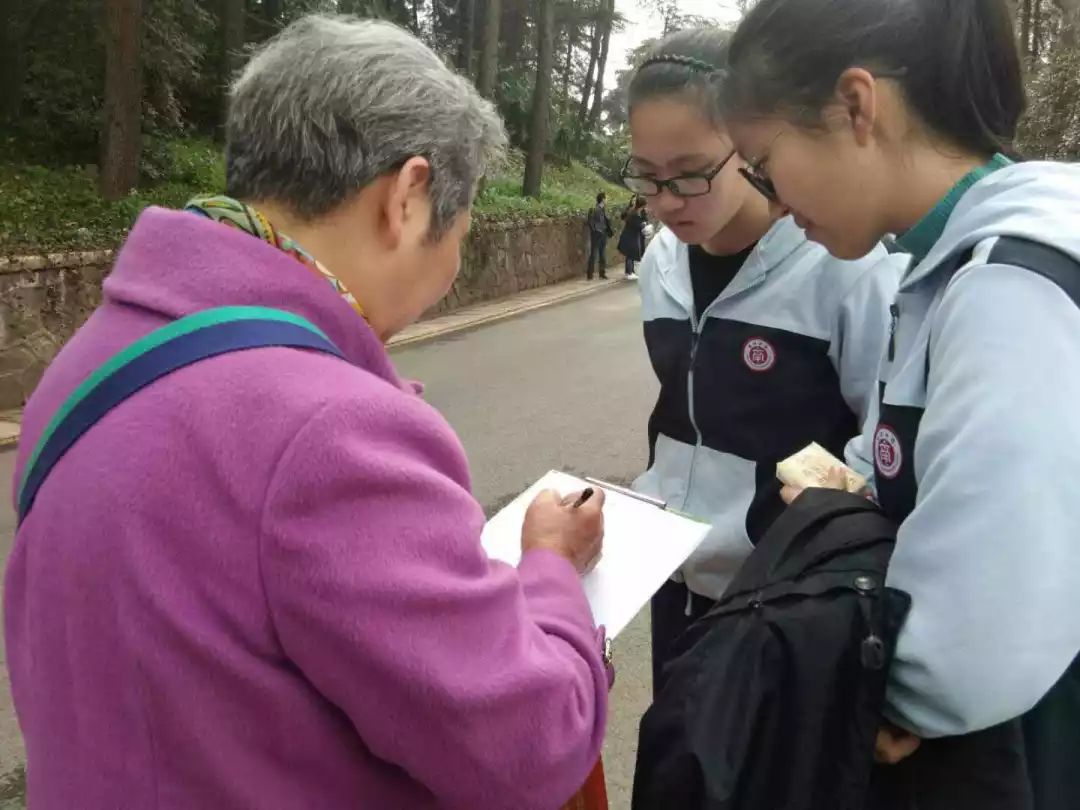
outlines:
[[[609,242],[609,257],[616,241]],[[45,366],[97,307],[112,255],[0,257],[0,410],[24,404]],[[575,278],[584,272],[586,257],[580,217],[478,224],[454,288],[428,316]]]

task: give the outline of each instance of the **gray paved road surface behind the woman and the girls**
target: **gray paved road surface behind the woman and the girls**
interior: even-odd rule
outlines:
[[[637,293],[619,287],[443,340],[395,351],[407,377],[450,421],[469,453],[474,491],[490,513],[551,469],[629,481],[646,461],[656,383]],[[0,454],[0,564],[11,544],[12,454]],[[630,807],[637,723],[648,705],[648,624],[619,638],[619,677],[605,757],[612,810]],[[3,648],[0,643],[0,664]],[[2,666],[0,666],[2,671]],[[22,750],[0,672],[0,810]]]

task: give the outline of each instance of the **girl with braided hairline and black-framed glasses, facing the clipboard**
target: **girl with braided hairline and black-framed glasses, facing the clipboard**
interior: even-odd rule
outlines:
[[[630,86],[626,186],[666,226],[640,268],[660,381],[638,490],[712,532],[652,604],[653,690],[672,643],[727,588],[783,509],[777,462],[841,454],[873,395],[902,260],[838,261],[739,170],[718,113],[729,35],[662,40]]]

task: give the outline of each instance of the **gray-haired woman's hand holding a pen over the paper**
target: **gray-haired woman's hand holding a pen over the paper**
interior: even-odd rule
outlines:
[[[588,571],[604,545],[604,490],[597,488],[577,508],[576,500],[554,489],[540,492],[525,513],[522,552],[546,549],[569,559],[579,573]]]

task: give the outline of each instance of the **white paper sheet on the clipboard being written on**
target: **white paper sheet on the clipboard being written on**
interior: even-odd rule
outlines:
[[[548,473],[488,521],[484,550],[489,557],[516,566],[525,511],[536,496],[544,489],[567,496],[589,486],[593,485],[572,475]],[[701,545],[708,526],[618,492],[604,494],[604,556],[581,584],[593,618],[613,638]]]

